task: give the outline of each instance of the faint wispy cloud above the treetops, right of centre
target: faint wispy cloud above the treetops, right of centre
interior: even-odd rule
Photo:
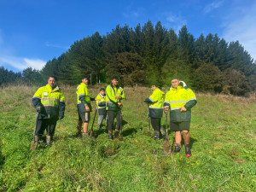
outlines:
[[[163,25],[166,26],[167,29],[172,28],[176,33],[184,26],[187,25],[187,20],[183,18],[181,15],[174,15],[172,13],[166,13],[166,23]]]

